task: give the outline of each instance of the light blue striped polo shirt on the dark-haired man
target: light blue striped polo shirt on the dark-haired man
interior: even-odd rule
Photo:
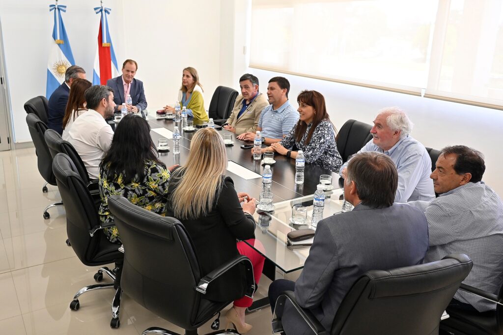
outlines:
[[[269,105],[262,110],[259,120],[259,128],[262,128],[261,135],[268,138],[283,138],[292,130],[299,119],[299,112],[293,109],[290,102],[281,105],[277,110],[273,105]]]

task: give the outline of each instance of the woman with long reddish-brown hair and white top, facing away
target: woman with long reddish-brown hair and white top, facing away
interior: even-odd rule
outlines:
[[[63,116],[63,134],[61,137],[66,141],[68,140],[68,130],[78,116],[87,112],[86,97],[84,92],[89,89],[93,84],[87,79],[75,78],[70,87],[70,95],[66,103],[66,109]]]

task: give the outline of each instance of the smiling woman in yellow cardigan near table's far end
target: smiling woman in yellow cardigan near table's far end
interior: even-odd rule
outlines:
[[[187,108],[188,116],[194,118],[194,124],[208,122],[208,113],[204,109],[203,89],[199,82],[197,70],[193,67],[184,68],[182,75],[182,87],[178,92],[180,105]],[[164,107],[166,112],[175,112],[171,106]]]

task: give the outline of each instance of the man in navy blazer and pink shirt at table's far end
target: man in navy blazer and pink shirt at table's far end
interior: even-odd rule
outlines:
[[[126,59],[122,64],[122,75],[107,80],[107,86],[114,90],[114,103],[117,105],[115,107],[117,111],[121,110],[128,94],[133,102],[131,106],[126,105],[129,113],[138,113],[147,108],[143,82],[134,78],[137,69],[138,63],[136,61]]]

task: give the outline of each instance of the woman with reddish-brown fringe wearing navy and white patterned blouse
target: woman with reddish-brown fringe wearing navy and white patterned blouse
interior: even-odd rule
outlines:
[[[336,132],[326,112],[325,98],[316,91],[302,91],[297,97],[299,121],[280,142],[261,151],[275,151],[296,158],[297,151],[290,149],[295,144],[304,153],[306,163],[319,165],[337,172],[343,160],[336,145]]]

